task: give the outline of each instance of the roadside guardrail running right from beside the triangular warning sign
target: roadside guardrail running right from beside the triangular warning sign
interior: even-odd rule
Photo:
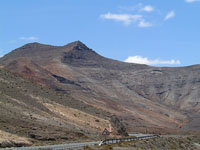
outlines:
[[[128,141],[136,141],[136,140],[145,140],[160,137],[159,135],[149,135],[149,136],[141,136],[141,137],[130,137],[130,138],[121,138],[121,139],[107,139],[102,141],[99,145],[105,144],[113,144],[118,142],[128,142]]]

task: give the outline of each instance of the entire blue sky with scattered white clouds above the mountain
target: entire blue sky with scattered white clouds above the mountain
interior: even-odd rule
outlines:
[[[80,40],[127,63],[200,64],[199,14],[200,0],[0,0],[0,57]]]

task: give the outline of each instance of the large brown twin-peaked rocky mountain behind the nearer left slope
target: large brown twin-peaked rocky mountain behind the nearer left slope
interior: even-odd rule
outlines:
[[[80,41],[64,46],[26,44],[1,58],[0,65],[50,93],[73,99],[76,110],[84,104],[94,109],[90,113],[102,114],[92,115],[105,119],[109,114],[110,121],[116,116],[114,124],[124,125],[128,132],[200,133],[200,65],[124,63],[105,58]],[[55,113],[53,107],[45,106]]]

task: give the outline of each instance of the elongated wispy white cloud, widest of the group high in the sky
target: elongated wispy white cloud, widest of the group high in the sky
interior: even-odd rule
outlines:
[[[130,25],[142,19],[142,15],[132,15],[132,14],[102,14],[100,18],[107,20],[115,20],[118,22],[123,22],[125,25]]]

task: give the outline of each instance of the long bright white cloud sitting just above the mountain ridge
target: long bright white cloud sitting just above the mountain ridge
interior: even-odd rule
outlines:
[[[147,57],[141,56],[129,56],[125,62],[127,63],[137,63],[137,64],[146,64],[146,65],[179,65],[181,62],[179,60],[160,60],[154,59],[150,60]]]

